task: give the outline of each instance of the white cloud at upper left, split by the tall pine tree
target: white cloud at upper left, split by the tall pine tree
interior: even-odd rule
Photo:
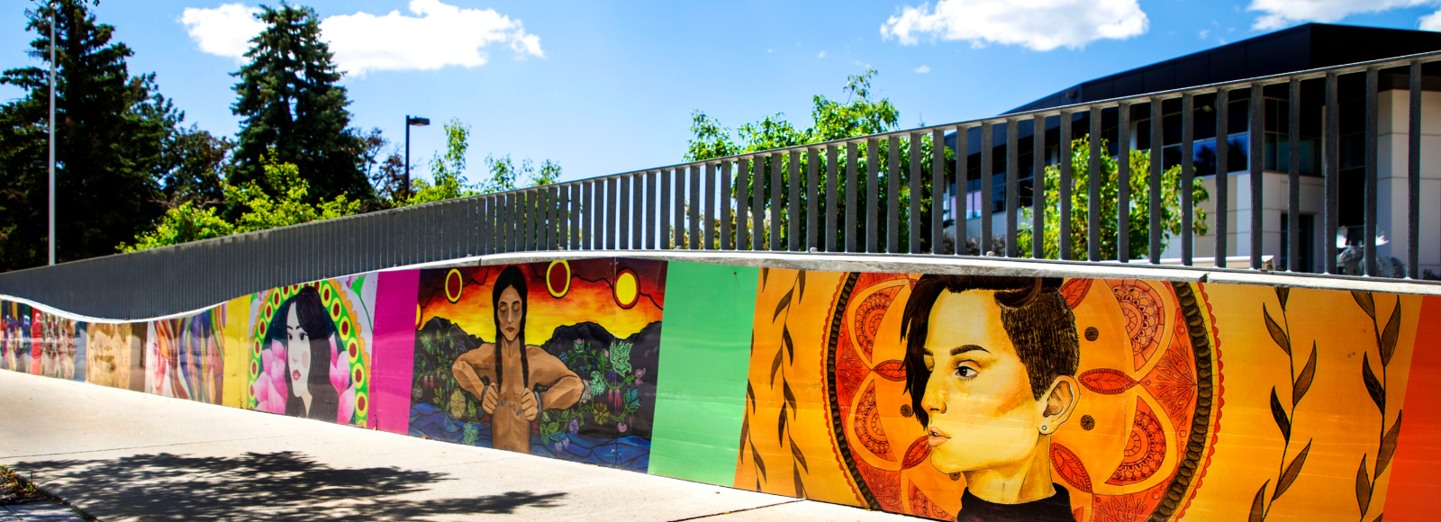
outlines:
[[[180,23],[200,50],[241,59],[249,39],[264,29],[254,13],[259,9],[239,3],[216,9],[186,9]],[[414,16],[392,10],[383,16],[369,13],[337,14],[320,22],[321,37],[336,55],[336,65],[349,74],[369,71],[432,71],[448,65],[473,68],[486,65],[490,45],[503,45],[516,53],[545,58],[540,37],[526,33],[520,20],[493,9],[461,9],[440,0],[411,0]]]

